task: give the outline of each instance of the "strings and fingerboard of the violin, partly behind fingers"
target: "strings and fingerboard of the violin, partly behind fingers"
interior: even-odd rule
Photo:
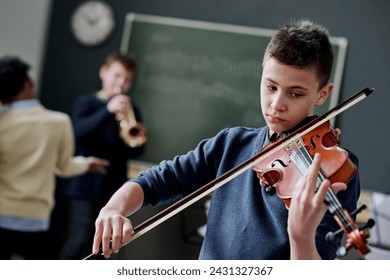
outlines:
[[[309,154],[308,150],[302,145],[301,140],[292,142],[292,151],[296,153],[297,159],[292,156],[293,162],[296,164],[298,169],[300,170],[301,174],[304,175],[307,170],[309,169],[309,166],[312,164],[313,159],[311,155]],[[325,176],[323,175],[322,171],[320,170],[319,176],[317,177],[317,185],[315,191],[318,190],[320,184],[325,180]],[[349,229],[349,231],[352,231],[351,225],[349,223],[348,217],[345,215],[343,211],[343,207],[340,204],[340,201],[337,199],[335,193],[332,189],[328,189],[326,193],[326,201],[332,206],[332,208],[329,208],[332,214],[336,214],[337,217],[340,219],[340,221],[343,223],[343,225]]]

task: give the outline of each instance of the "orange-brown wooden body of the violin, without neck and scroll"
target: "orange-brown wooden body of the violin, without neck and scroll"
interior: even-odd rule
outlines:
[[[339,130],[332,128],[327,121],[293,143],[285,144],[283,149],[253,166],[260,184],[274,187],[289,208],[293,188],[302,177],[298,164],[292,159],[297,149],[305,149],[311,157],[320,153],[324,176],[332,183],[348,183],[356,173],[356,166],[349,159],[348,152],[339,147],[339,134]]]

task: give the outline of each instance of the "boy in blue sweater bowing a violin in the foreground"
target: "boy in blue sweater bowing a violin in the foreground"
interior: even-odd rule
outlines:
[[[192,151],[163,161],[125,183],[100,212],[93,253],[109,257],[130,241],[126,218],[145,205],[184,197],[257,154],[273,133],[290,133],[313,116],[333,89],[333,53],[328,31],[309,20],[291,21],[272,37],[263,58],[260,97],[267,126],[226,128]],[[357,157],[349,152],[357,166]],[[348,182],[324,180],[316,191],[321,156],[294,186],[289,210],[246,171],[215,190],[200,259],[335,259],[338,242],[325,240],[338,229],[324,203],[329,187],[347,211],[356,209],[358,172]],[[110,240],[112,240],[110,244]]]

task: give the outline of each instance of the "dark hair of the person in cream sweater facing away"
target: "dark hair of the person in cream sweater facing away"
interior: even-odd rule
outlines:
[[[0,100],[16,96],[24,87],[30,65],[15,56],[0,58]]]

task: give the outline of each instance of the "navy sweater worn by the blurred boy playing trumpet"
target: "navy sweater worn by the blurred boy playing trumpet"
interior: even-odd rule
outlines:
[[[110,162],[107,174],[86,173],[69,179],[65,188],[68,197],[101,206],[127,181],[127,161],[138,157],[144,150],[144,147],[130,148],[120,138],[118,121],[107,110],[107,102],[98,98],[96,93],[85,94],[77,99],[72,112],[75,155],[107,159]],[[137,107],[134,107],[134,113],[140,120]]]

